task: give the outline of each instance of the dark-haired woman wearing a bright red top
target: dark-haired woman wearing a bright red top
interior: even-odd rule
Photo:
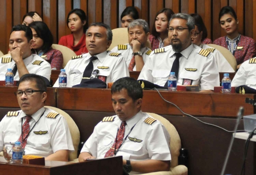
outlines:
[[[85,44],[85,32],[88,28],[86,20],[86,14],[82,9],[71,10],[66,23],[72,34],[62,36],[58,44],[70,48],[76,55],[88,53]]]

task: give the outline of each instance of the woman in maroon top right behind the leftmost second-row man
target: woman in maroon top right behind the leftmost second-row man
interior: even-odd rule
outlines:
[[[32,30],[34,41],[32,53],[48,61],[51,64],[52,70],[62,69],[63,55],[59,50],[52,48],[53,35],[46,23],[35,21],[29,27]]]

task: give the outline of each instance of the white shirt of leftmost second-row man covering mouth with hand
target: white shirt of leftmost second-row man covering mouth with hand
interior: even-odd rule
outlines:
[[[31,54],[29,57],[23,59],[24,64],[29,73],[41,75],[50,81],[52,68],[51,65],[45,61],[43,58],[39,57],[36,54]],[[8,68],[13,69],[15,66],[15,61],[9,57],[0,58],[0,81],[5,80],[5,74]],[[14,76],[14,81],[19,80],[18,70]]]

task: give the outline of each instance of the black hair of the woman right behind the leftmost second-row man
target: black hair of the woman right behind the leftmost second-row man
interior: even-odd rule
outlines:
[[[34,28],[37,32],[37,36],[44,41],[42,50],[45,52],[48,51],[53,44],[53,34],[51,33],[46,23],[42,21],[34,21],[28,26]]]

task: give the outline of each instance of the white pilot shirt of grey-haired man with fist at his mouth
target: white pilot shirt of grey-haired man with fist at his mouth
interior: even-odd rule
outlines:
[[[130,44],[120,44],[120,45],[114,47],[111,51],[115,52],[115,53],[121,53],[123,55],[123,57],[125,58],[127,67],[129,67],[131,59],[133,57],[133,51],[132,51],[132,47],[130,46]],[[140,52],[142,53],[142,58],[143,58],[144,63],[146,63],[146,60],[148,59],[148,57],[152,51],[148,47],[144,47],[144,48],[140,49]],[[133,71],[136,71],[136,66],[134,66]]]

